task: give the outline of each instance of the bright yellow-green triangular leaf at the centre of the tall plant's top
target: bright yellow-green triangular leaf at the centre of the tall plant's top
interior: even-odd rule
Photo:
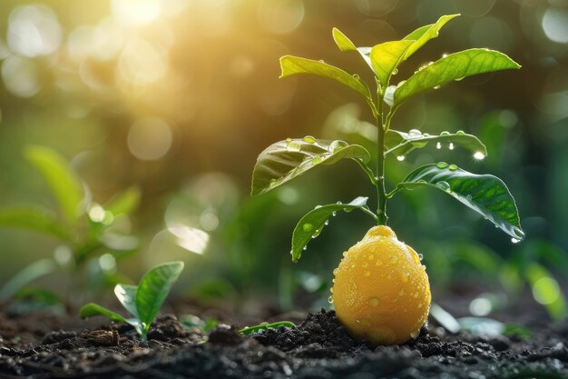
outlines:
[[[378,81],[386,87],[402,56],[414,41],[390,41],[371,49],[371,64]]]

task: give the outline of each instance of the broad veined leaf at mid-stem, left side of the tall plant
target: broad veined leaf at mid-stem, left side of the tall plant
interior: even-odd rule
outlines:
[[[252,171],[251,195],[265,194],[317,165],[333,165],[344,158],[367,163],[370,155],[362,146],[339,140],[306,136],[279,141],[260,153]]]

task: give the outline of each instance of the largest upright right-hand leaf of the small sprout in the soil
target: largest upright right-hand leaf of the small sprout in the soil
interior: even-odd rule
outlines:
[[[136,309],[144,332],[148,332],[152,320],[158,314],[163,302],[170,293],[170,288],[183,270],[183,262],[158,264],[142,277],[136,292]]]

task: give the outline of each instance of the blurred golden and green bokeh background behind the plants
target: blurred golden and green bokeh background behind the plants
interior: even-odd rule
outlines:
[[[357,55],[338,51],[332,27],[356,45],[376,45],[454,13],[462,17],[398,76],[469,47],[500,50],[523,68],[468,78],[404,106],[394,128],[461,129],[478,135],[489,155],[475,161],[465,151],[429,146],[404,162],[389,158],[388,185],[442,160],[497,175],[517,200],[527,240],[512,244],[482,217],[428,191],[395,197],[389,224],[425,255],[435,300],[436,291],[468,283],[510,294],[525,278],[537,300],[556,304],[563,299],[556,279],[562,287],[568,273],[563,0],[3,0],[0,208],[57,209],[24,155],[25,146],[44,145],[89,189],[79,210],[89,223],[101,221],[99,204],[115,194],[132,186],[142,194],[136,210],[114,225],[131,238],[121,240],[131,243],[129,253],[105,243],[85,263],[87,273],[108,274],[104,285],[136,281],[152,264],[181,259],[178,293],[185,296],[232,302],[244,312],[261,302],[279,309],[325,304],[341,253],[371,225],[362,214],[334,218],[299,264],[289,258],[291,231],[316,204],[369,195],[373,208],[373,188],[345,162],[250,199],[250,174],[273,142],[303,135],[359,141],[372,117],[356,95],[324,79],[279,80],[279,57],[324,59],[371,79]],[[64,252],[52,237],[0,229],[0,285],[55,256],[71,274],[39,283],[65,294],[73,263]],[[534,263],[545,271],[534,271]],[[549,276],[556,279],[542,290],[548,297],[539,298],[534,284]],[[303,294],[308,303],[299,300]]]

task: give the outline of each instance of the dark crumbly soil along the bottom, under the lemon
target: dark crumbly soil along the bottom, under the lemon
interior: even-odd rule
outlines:
[[[375,347],[351,339],[325,310],[250,336],[227,324],[187,330],[166,314],[148,341],[97,319],[63,325],[55,316],[0,314],[0,378],[568,379],[568,323],[541,323],[530,339],[432,324],[406,344]]]

